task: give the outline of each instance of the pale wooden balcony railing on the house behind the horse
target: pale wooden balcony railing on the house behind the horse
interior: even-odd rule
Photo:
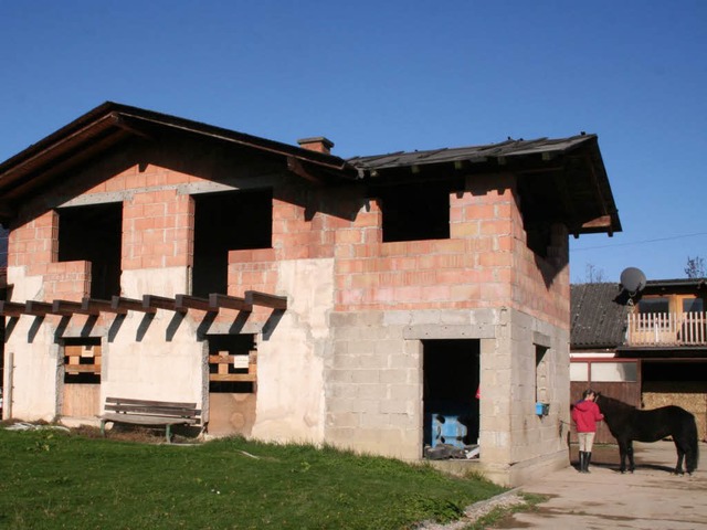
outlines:
[[[631,314],[626,346],[707,346],[707,314]]]

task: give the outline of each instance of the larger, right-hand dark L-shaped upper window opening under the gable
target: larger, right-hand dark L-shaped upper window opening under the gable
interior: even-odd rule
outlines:
[[[194,195],[194,206],[192,294],[225,294],[229,251],[273,245],[272,191]]]

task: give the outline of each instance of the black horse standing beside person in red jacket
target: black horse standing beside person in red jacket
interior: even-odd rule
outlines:
[[[683,458],[687,474],[697,469],[699,459],[699,443],[695,416],[677,405],[662,406],[642,411],[633,405],[613,398],[597,394],[594,402],[604,415],[604,422],[616,442],[621,456],[621,473],[626,473],[626,457],[629,470],[633,473],[633,441],[657,442],[672,436],[677,449],[677,465],[675,474],[683,475]]]

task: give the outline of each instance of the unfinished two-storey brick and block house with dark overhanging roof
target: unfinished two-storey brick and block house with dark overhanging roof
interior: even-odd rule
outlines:
[[[4,417],[197,402],[404,459],[442,418],[499,484],[568,465],[569,235],[621,230],[597,137],[299,144],[106,103],[1,163]]]

